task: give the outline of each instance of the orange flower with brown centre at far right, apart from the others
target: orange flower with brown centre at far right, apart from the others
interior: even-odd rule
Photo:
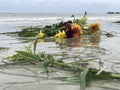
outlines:
[[[99,22],[94,22],[94,23],[92,23],[92,24],[90,24],[90,25],[88,26],[88,30],[89,30],[92,34],[98,33],[99,29],[100,29],[100,24],[99,24]]]

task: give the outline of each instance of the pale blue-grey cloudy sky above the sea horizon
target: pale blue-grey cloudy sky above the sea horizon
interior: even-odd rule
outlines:
[[[0,12],[92,13],[119,12],[120,0],[0,0]]]

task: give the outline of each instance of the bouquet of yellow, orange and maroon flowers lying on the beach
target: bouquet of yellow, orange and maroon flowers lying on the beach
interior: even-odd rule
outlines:
[[[93,22],[92,24],[86,25],[88,19],[87,14],[85,14],[80,19],[73,19],[66,22],[60,22],[59,24],[54,24],[52,26],[45,26],[38,33],[38,38],[43,38],[45,36],[54,36],[55,38],[72,38],[80,37],[81,35],[91,35],[98,34],[100,32],[99,22]],[[46,29],[46,28],[49,29]]]

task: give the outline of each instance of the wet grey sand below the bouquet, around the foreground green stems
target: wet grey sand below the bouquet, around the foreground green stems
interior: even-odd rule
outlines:
[[[13,55],[16,50],[24,49],[28,43],[20,43],[16,37],[0,35],[0,46],[9,48],[6,51],[0,52],[0,58]],[[85,42],[86,40],[87,42]],[[120,73],[120,37],[106,36],[87,38],[80,38],[74,40],[63,40],[63,46],[60,46],[61,42],[55,42],[44,39],[40,41],[37,46],[37,52],[45,51],[46,53],[55,55],[63,54],[65,62],[70,62],[74,57],[79,56],[79,53],[86,50],[84,54],[80,54],[82,58],[99,57],[98,60],[89,62],[90,67],[103,68],[105,70],[114,73]],[[102,52],[101,52],[102,51]],[[72,57],[71,57],[72,56]],[[89,58],[87,57],[87,58]],[[56,57],[57,58],[57,57]],[[79,58],[79,57],[78,57]],[[77,60],[77,59],[76,59]],[[102,64],[101,64],[101,63]],[[46,74],[42,66],[37,65],[3,65],[1,61],[0,65],[0,90],[80,90],[79,83],[72,83],[63,81],[63,77],[73,76],[71,72],[63,70],[52,69],[52,73]],[[87,87],[86,90],[120,90],[119,80],[102,80],[93,81]]]

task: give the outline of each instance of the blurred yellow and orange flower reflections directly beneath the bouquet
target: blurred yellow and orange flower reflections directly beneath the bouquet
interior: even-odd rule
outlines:
[[[57,38],[56,43],[60,46],[65,45],[67,47],[80,47],[80,46],[98,47],[100,43],[100,36],[87,35],[78,38],[67,38],[67,39]]]

